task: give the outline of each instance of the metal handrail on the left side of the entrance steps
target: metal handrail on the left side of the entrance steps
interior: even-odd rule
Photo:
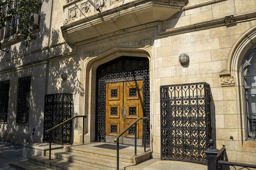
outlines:
[[[73,116],[73,117],[71,117],[70,119],[67,119],[67,120],[65,120],[64,122],[61,122],[60,124],[58,124],[58,125],[56,125],[56,126],[54,126],[54,127],[52,127],[52,128],[50,128],[50,129],[48,129],[48,130],[46,130],[45,132],[46,133],[50,133],[49,134],[49,160],[51,160],[51,149],[52,149],[52,130],[54,130],[54,129],[56,129],[57,127],[60,127],[61,125],[64,125],[65,123],[67,123],[67,122],[70,122],[71,120],[73,120],[73,119],[75,119],[75,118],[77,118],[77,117],[82,117],[83,118],[83,144],[84,144],[84,119],[85,118],[87,118],[87,116],[85,116],[85,115],[81,115],[81,116]],[[72,125],[71,125],[71,138],[70,138],[70,144],[72,145],[72,126],[73,126],[73,123],[72,123]]]

